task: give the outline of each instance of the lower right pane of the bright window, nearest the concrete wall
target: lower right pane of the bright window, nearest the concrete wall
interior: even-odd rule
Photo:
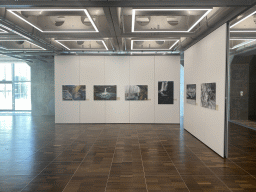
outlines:
[[[15,110],[31,110],[31,83],[15,83]]]

